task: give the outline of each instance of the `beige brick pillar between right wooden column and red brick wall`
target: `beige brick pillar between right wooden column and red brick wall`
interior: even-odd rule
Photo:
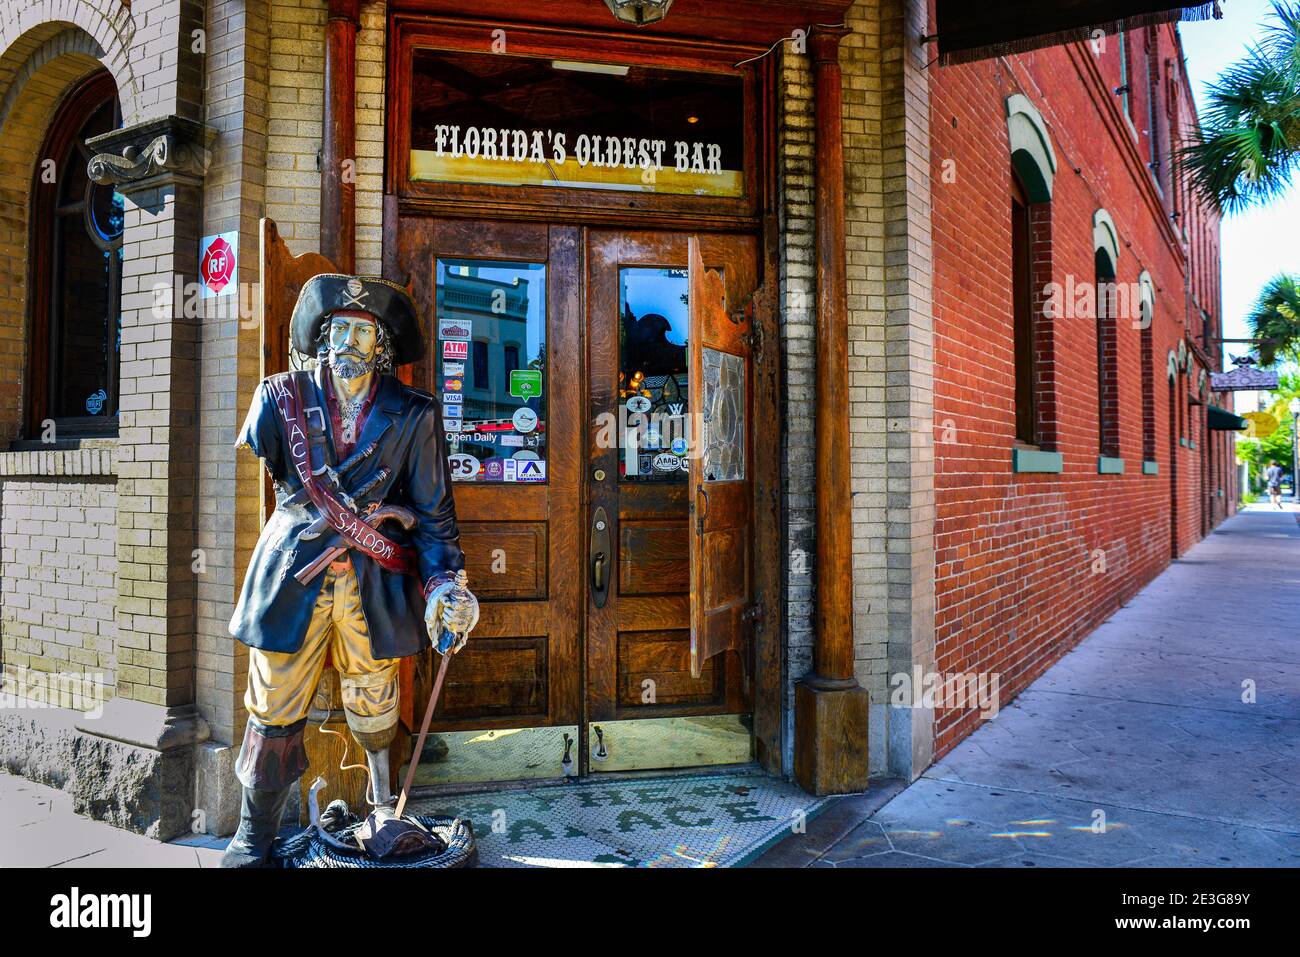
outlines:
[[[923,0],[846,17],[845,225],[857,676],[874,774],[930,763],[931,715],[889,711],[889,679],[933,668],[933,426],[928,86]],[[897,727],[890,727],[897,724]]]

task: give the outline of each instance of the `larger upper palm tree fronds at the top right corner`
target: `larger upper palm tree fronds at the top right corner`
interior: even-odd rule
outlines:
[[[1271,5],[1264,39],[1208,88],[1200,133],[1179,157],[1226,212],[1280,195],[1300,159],[1300,3]]]

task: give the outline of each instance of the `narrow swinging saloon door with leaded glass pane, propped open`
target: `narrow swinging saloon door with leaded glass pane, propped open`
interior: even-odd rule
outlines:
[[[690,674],[698,677],[723,651],[749,661],[753,316],[734,291],[728,296],[728,289],[746,287],[741,277],[728,274],[727,264],[706,268],[696,237],[689,250]]]

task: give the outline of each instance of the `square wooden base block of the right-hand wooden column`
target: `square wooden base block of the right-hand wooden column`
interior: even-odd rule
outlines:
[[[794,687],[794,780],[810,794],[867,789],[867,710],[855,681],[819,679]]]

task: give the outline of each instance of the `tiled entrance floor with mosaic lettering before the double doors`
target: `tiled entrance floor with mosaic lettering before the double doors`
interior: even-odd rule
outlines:
[[[411,807],[469,818],[480,867],[737,867],[826,802],[737,772],[412,798]]]

